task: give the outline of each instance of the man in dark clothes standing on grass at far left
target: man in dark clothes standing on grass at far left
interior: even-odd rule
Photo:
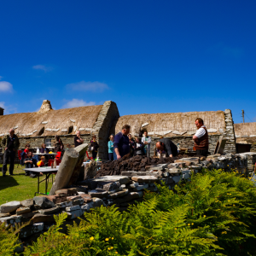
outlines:
[[[15,135],[15,130],[10,129],[9,135],[3,137],[3,177],[7,172],[7,164],[9,161],[9,175],[14,175],[15,154],[20,146],[19,138]]]

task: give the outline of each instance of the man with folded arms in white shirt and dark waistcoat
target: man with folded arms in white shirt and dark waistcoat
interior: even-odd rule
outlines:
[[[203,119],[195,119],[195,126],[198,129],[193,136],[194,147],[197,155],[208,155],[209,139],[207,127],[204,125]]]

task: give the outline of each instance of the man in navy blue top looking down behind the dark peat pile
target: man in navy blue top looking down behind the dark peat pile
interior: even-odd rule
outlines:
[[[130,153],[129,137],[127,137],[127,135],[130,133],[130,128],[130,125],[124,125],[122,127],[122,131],[113,137],[114,160],[119,160],[125,154]]]

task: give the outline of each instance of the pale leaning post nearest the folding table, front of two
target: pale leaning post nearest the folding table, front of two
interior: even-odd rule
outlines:
[[[55,191],[58,189],[64,189],[73,174],[73,169],[79,160],[79,153],[73,148],[69,148],[65,151],[59,171],[55,177],[55,182],[52,184],[52,188],[49,191],[49,195],[55,195]]]

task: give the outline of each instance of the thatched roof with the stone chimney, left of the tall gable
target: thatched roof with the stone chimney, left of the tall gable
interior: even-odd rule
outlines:
[[[49,101],[44,101],[38,113],[0,115],[0,136],[8,134],[10,128],[15,128],[19,137],[75,134],[78,130],[90,133],[101,110],[102,105],[53,110]]]

